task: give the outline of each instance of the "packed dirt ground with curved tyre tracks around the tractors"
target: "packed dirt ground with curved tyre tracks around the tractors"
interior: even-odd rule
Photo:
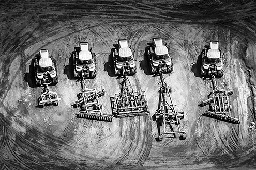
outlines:
[[[254,1],[6,1],[0,3],[0,169],[254,169],[256,129],[256,3]],[[159,76],[149,72],[147,43],[161,37],[174,68],[164,74],[173,103],[184,111],[185,140],[158,141],[154,114]],[[127,39],[145,91],[149,116],[112,122],[77,118],[81,92],[73,78],[74,47],[87,41],[96,54],[97,76],[87,88],[104,89],[103,113],[121,90],[111,49]],[[224,54],[218,87],[233,90],[232,116],[240,124],[205,117],[200,107],[213,89],[201,77],[200,56],[210,40]],[[43,89],[34,86],[32,59],[46,48],[56,60],[59,82],[51,86],[58,106],[37,107]],[[174,127],[176,128],[176,127]]]

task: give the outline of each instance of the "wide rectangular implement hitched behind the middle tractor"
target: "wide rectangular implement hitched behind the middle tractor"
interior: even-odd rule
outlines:
[[[149,114],[145,91],[134,91],[127,75],[124,75],[121,93],[110,99],[113,115],[117,118]]]

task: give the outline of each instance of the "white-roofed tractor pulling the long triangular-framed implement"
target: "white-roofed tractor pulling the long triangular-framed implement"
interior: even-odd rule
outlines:
[[[163,45],[161,38],[153,38],[153,42],[148,43],[147,57],[150,65],[150,72],[155,74],[171,73],[173,71],[172,58],[170,57],[169,50]]]

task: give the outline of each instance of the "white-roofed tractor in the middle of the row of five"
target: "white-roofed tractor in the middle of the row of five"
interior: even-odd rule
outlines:
[[[131,48],[126,39],[118,40],[118,45],[112,49],[115,75],[134,75],[136,71],[135,61]]]

